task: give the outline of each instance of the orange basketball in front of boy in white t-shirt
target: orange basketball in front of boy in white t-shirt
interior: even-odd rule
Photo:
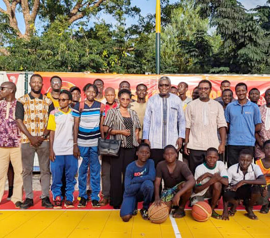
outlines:
[[[207,221],[212,214],[210,205],[206,202],[198,202],[192,206],[192,217],[198,222]]]

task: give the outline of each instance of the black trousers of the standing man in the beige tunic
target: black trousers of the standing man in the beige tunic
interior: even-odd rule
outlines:
[[[195,175],[195,169],[198,165],[205,161],[206,150],[189,149],[188,167],[193,175]],[[223,154],[219,155],[219,160],[223,161]]]

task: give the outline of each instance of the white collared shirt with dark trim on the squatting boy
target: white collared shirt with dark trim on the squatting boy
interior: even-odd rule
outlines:
[[[262,174],[262,170],[257,164],[250,164],[247,168],[247,173],[244,175],[240,169],[240,164],[234,164],[228,168],[229,184],[235,185],[241,180],[256,180]]]

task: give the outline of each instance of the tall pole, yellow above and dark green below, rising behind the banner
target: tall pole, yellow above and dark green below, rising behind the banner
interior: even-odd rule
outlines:
[[[156,7],[156,74],[160,74],[160,0],[157,0]]]

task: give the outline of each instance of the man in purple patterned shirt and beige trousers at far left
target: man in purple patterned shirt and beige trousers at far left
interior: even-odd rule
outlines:
[[[0,202],[5,190],[5,183],[11,162],[14,175],[14,190],[11,201],[16,207],[22,205],[23,177],[22,177],[22,153],[21,132],[18,128],[14,113],[16,109],[16,85],[13,82],[3,82],[0,86]]]

